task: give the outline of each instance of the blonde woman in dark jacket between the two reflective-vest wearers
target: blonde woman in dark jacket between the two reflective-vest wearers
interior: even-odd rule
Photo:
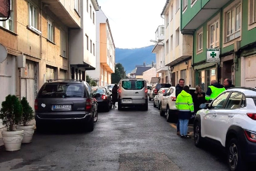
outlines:
[[[196,86],[196,91],[192,94],[192,99],[194,103],[194,112],[196,113],[200,110],[199,106],[203,103],[206,103],[205,93],[202,92],[202,88],[200,85]]]

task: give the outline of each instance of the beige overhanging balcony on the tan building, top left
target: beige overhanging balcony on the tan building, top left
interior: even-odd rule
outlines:
[[[74,10],[70,0],[43,0],[43,7],[48,8],[63,24],[69,28],[81,28],[81,17]]]

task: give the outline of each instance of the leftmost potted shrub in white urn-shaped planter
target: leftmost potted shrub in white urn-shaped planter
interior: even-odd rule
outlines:
[[[15,126],[21,121],[21,115],[22,106],[19,99],[15,95],[6,96],[0,109],[0,119],[7,129],[2,131],[6,151],[21,149],[24,131],[15,129]]]

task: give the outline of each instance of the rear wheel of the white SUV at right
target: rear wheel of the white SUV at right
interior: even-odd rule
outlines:
[[[242,159],[240,144],[237,139],[233,138],[229,141],[228,162],[230,171],[246,170],[246,163]]]

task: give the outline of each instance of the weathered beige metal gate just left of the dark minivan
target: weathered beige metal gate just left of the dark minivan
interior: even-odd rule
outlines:
[[[29,105],[34,109],[37,95],[37,64],[26,60],[26,67],[21,68],[21,98],[26,97]]]

